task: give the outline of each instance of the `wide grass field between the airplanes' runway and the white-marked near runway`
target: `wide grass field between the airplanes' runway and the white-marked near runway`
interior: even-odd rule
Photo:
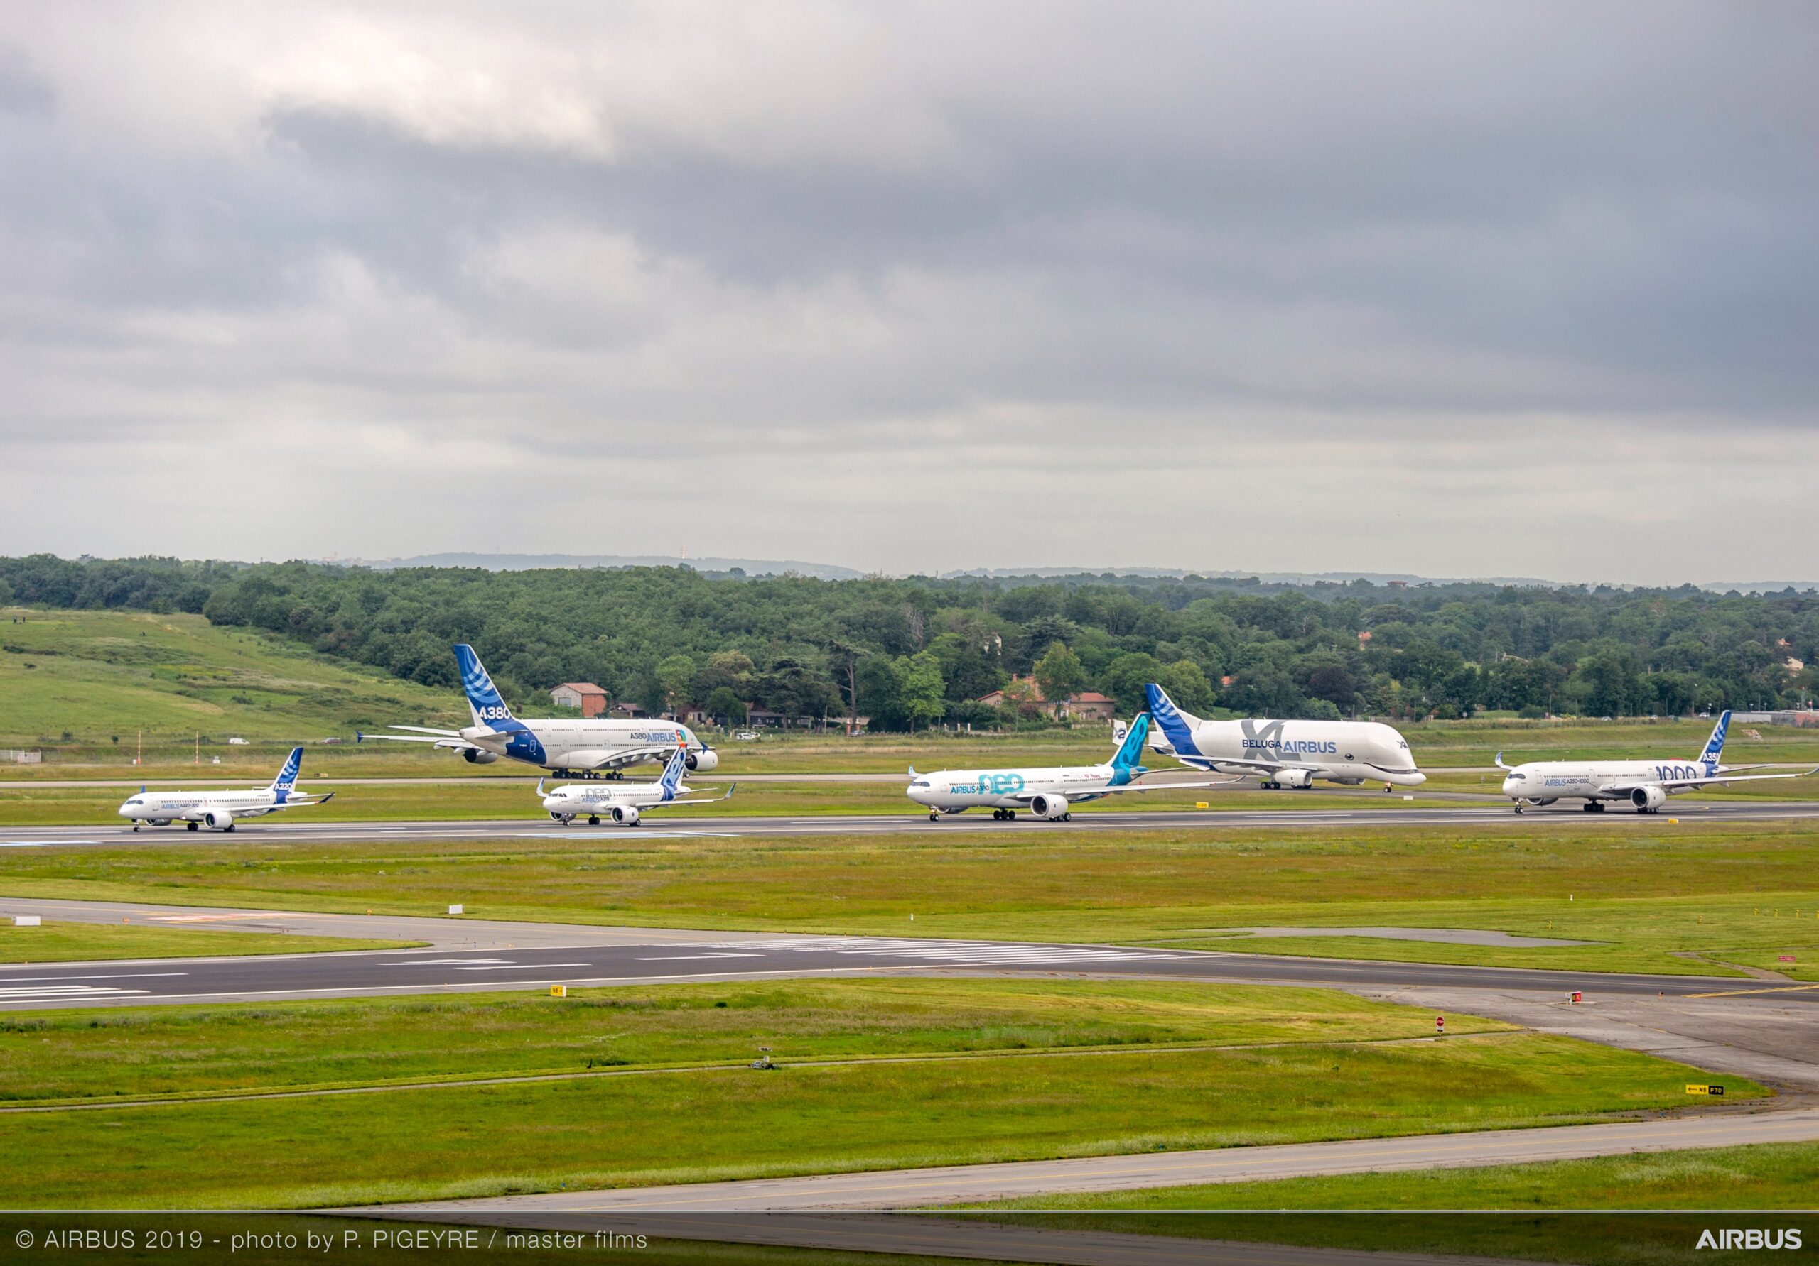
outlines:
[[[988,824],[990,826],[990,824]],[[178,837],[182,839],[182,837]],[[1528,831],[286,842],[9,849],[0,891],[677,928],[1146,942],[1612,971],[1819,979],[1814,833],[1604,820]],[[1006,882],[1015,875],[1015,882]],[[915,922],[911,924],[911,915]],[[1590,946],[1231,937],[1248,926],[1492,928]],[[1790,955],[1794,962],[1783,962]]]

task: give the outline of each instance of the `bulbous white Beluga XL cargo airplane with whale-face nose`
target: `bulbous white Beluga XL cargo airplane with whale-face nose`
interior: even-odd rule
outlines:
[[[1408,740],[1379,720],[1201,720],[1155,682],[1144,693],[1155,713],[1150,748],[1195,769],[1262,779],[1271,791],[1306,791],[1315,779],[1350,788],[1381,780],[1384,791],[1428,780]]]

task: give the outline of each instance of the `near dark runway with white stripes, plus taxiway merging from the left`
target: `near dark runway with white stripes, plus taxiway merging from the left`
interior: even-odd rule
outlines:
[[[0,899],[0,911],[69,919],[82,902]],[[1295,959],[1253,953],[1144,950],[1060,942],[935,940],[917,937],[797,937],[742,931],[589,928],[584,924],[469,924],[460,919],[309,915],[96,904],[93,920],[207,926],[249,931],[431,940],[426,950],[156,959],[0,968],[0,1010],[249,1002],[548,990],[551,984],[626,986],[768,977],[988,971],[1135,979],[1301,984],[1335,988],[1452,988],[1595,995],[1701,997],[1724,993],[1775,1004],[1819,1002],[1819,986],[1774,986],[1739,977],[1646,977],[1601,971],[1472,968],[1437,962]],[[80,911],[76,911],[80,913]],[[422,935],[435,924],[433,939]],[[515,929],[520,929],[515,935]],[[455,948],[462,937],[473,948]],[[508,939],[509,937],[509,939]]]

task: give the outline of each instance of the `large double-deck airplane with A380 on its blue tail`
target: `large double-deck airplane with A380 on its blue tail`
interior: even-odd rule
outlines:
[[[620,769],[646,760],[662,760],[677,744],[688,748],[688,768],[693,773],[708,773],[719,768],[719,753],[704,744],[695,733],[675,720],[518,720],[506,708],[493,678],[473,648],[466,642],[455,646],[455,662],[460,664],[460,684],[467,693],[467,711],[473,724],[460,729],[431,729],[429,726],[387,726],[387,729],[407,729],[407,735],[355,735],[355,742],[384,738],[387,742],[429,742],[437,748],[458,751],[467,764],[493,764],[495,760],[522,760],[542,766],[551,773],[589,779],[597,769],[604,769],[609,779],[620,777]]]

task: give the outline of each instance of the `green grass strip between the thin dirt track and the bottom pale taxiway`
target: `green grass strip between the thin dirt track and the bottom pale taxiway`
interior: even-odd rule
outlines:
[[[295,1208],[1492,1130],[1681,1106],[1693,1075],[1484,1033],[7,1111],[0,1148],[33,1162],[0,1168],[0,1201]]]

